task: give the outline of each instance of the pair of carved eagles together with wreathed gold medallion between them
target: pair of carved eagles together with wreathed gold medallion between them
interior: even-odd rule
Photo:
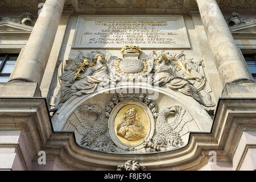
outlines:
[[[114,111],[110,113],[109,119],[106,117],[104,109],[99,105],[82,105],[68,118],[63,131],[76,131],[81,137],[79,139],[80,144],[84,147],[119,153],[146,153],[176,149],[184,146],[183,139],[184,137],[188,137],[189,131],[200,131],[195,119],[193,119],[191,114],[183,106],[174,105],[163,107],[158,113],[158,118],[154,119],[154,117],[146,116],[149,114],[147,110],[150,111],[150,109],[146,108],[147,106],[144,103],[154,104],[154,102],[150,101],[149,96],[143,94],[119,94],[114,95],[112,101],[117,101],[117,98],[121,98],[121,101],[118,99],[119,102],[115,102],[117,103],[117,107],[114,107]],[[122,98],[129,98],[129,100],[122,100]],[[135,99],[133,100],[133,98]],[[144,104],[146,107],[139,105],[137,102]],[[135,113],[135,120],[131,120],[134,123],[130,123],[130,120],[126,120],[126,117],[118,117],[117,113],[122,110],[123,106],[127,107],[127,109],[124,109],[126,117],[131,118],[130,114]],[[138,106],[147,114],[143,115],[141,111],[136,109]],[[108,107],[109,104],[105,108]],[[90,114],[94,114],[96,117],[92,119]],[[170,117],[172,118],[171,122],[168,121]],[[138,121],[136,118],[138,118]],[[148,119],[149,128],[146,118]],[[114,125],[117,119],[119,124]],[[122,125],[125,122],[130,124]],[[140,130],[138,130],[139,128]],[[132,139],[131,141],[135,141],[135,143],[129,143],[129,137],[125,138],[124,135],[121,136],[124,139],[119,140],[117,138],[118,132],[123,133],[123,131],[125,133],[128,132],[127,136],[129,135]],[[133,140],[134,137],[132,136],[136,136],[137,134],[141,136],[142,133],[144,133],[142,139]],[[145,138],[146,135],[147,137]],[[136,143],[137,140],[141,142]]]

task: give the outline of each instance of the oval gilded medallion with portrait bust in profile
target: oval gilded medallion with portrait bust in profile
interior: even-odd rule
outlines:
[[[148,118],[137,105],[126,105],[120,109],[114,120],[117,138],[125,144],[141,143],[148,133]]]

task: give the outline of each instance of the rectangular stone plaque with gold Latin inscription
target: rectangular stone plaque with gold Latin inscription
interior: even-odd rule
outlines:
[[[183,16],[79,16],[72,48],[191,48]]]

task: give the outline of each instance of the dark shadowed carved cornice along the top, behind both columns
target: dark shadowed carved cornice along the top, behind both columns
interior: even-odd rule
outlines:
[[[241,9],[254,10],[256,9],[255,0],[216,0],[221,9]],[[2,0],[0,2],[1,10],[39,10],[39,3],[44,3],[45,0]],[[96,9],[100,14],[122,13],[139,13],[139,14],[171,14],[171,13],[188,13],[189,9],[197,9],[196,0],[66,0],[65,7],[75,9],[75,13],[95,14]],[[114,10],[115,9],[115,10]],[[131,9],[136,9],[133,11]],[[86,11],[85,11],[86,10]],[[139,11],[139,12],[138,12]],[[97,13],[96,13],[97,14]]]

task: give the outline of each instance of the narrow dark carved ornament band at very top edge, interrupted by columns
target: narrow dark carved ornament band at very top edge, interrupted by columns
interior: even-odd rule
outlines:
[[[38,4],[45,0],[2,0],[0,9],[34,9],[38,10]],[[255,0],[217,0],[221,9],[255,9]],[[187,9],[195,7],[195,0],[67,0],[65,5],[73,5],[75,9]],[[78,6],[78,7],[76,7]],[[71,6],[70,6],[71,7]]]

